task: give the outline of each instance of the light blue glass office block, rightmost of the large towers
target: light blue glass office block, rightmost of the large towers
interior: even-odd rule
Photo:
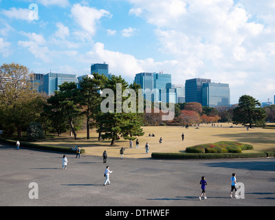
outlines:
[[[230,106],[230,88],[227,83],[203,83],[202,106]]]

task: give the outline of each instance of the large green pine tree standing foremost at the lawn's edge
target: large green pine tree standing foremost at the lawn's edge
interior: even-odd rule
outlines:
[[[115,140],[118,140],[119,135],[124,139],[131,140],[135,139],[134,135],[143,135],[140,127],[142,126],[142,117],[136,111],[137,94],[135,93],[135,97],[129,101],[130,98],[125,96],[128,83],[121,76],[112,76],[105,88],[111,89],[114,96],[113,100],[108,103],[109,111],[98,115],[97,118],[101,125],[97,131],[104,133],[102,139],[111,140],[111,145],[113,145]],[[136,85],[131,85],[131,88],[137,89]],[[110,94],[109,97],[111,97]],[[123,108],[122,104],[124,104]],[[130,112],[125,112],[125,109],[130,109]]]

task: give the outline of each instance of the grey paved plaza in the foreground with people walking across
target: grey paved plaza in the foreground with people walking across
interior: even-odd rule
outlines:
[[[0,206],[275,206],[275,159],[120,159],[32,151],[0,143]],[[103,186],[110,166],[111,184]],[[230,178],[245,186],[230,199]],[[207,199],[199,201],[201,176]],[[30,183],[38,199],[30,199]]]

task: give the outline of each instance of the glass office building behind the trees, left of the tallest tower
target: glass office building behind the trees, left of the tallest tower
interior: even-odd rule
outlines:
[[[75,74],[56,74],[50,72],[43,76],[39,85],[39,92],[45,92],[47,95],[52,95],[54,94],[54,91],[59,90],[58,85],[65,82],[78,83],[78,80]]]

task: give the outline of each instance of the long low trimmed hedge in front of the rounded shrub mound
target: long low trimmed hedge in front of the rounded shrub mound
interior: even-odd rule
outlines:
[[[273,156],[272,156],[273,155]],[[261,153],[152,153],[155,159],[230,159],[274,157],[275,152]]]

